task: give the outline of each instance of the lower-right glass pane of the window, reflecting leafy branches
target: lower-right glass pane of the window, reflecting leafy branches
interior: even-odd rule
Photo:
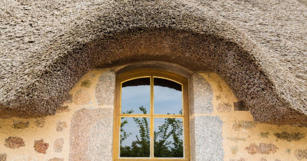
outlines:
[[[153,156],[183,158],[182,118],[154,118]]]

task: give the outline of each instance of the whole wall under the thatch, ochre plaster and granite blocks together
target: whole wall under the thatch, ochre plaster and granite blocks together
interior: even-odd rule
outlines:
[[[56,115],[0,119],[0,161],[111,160],[114,80],[114,72],[92,70]],[[307,160],[307,128],[234,111],[234,94],[214,73],[192,75],[190,89],[192,160]]]

